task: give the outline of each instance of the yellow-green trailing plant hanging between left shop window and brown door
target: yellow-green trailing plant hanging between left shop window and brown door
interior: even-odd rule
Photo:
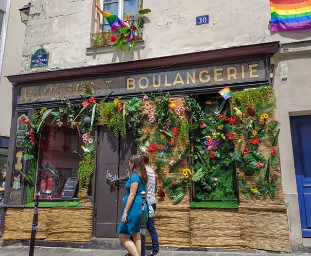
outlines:
[[[86,163],[84,164],[82,161],[79,163],[78,169],[78,178],[79,178],[79,196],[82,190],[83,182],[85,181],[85,185],[88,186],[92,179],[93,171],[94,171],[94,155],[89,153],[85,157]]]

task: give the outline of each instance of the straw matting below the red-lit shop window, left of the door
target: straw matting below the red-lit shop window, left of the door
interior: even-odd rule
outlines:
[[[2,239],[30,239],[34,209],[8,209]],[[89,242],[92,236],[90,207],[41,208],[36,239]]]

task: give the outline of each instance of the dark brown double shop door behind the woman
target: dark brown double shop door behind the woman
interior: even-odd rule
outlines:
[[[98,154],[95,188],[95,237],[115,238],[121,216],[124,183],[109,183],[109,173],[117,178],[126,176],[131,154],[136,154],[137,147],[130,132],[126,138],[116,137],[106,127],[99,127]]]

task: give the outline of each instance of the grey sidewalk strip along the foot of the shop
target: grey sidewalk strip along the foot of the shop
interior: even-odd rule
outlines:
[[[35,247],[34,256],[122,256],[124,250],[91,250],[91,249],[70,249],[70,248],[52,248]],[[149,253],[149,252],[148,252]],[[0,256],[28,256],[28,246],[5,246],[0,247]],[[147,254],[148,255],[148,254]],[[161,256],[311,256],[311,254],[270,254],[267,252],[250,252],[243,250],[226,251],[161,251]]]

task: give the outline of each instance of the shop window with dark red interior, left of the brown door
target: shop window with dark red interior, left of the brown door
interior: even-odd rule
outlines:
[[[38,173],[40,176],[40,199],[70,200],[77,198],[78,183],[74,183],[74,192],[64,197],[68,188],[68,181],[78,177],[79,154],[82,140],[77,130],[71,129],[68,124],[58,126],[47,125],[43,128],[40,140],[38,157]],[[37,175],[38,175],[37,173]],[[69,193],[70,194],[70,193]]]

